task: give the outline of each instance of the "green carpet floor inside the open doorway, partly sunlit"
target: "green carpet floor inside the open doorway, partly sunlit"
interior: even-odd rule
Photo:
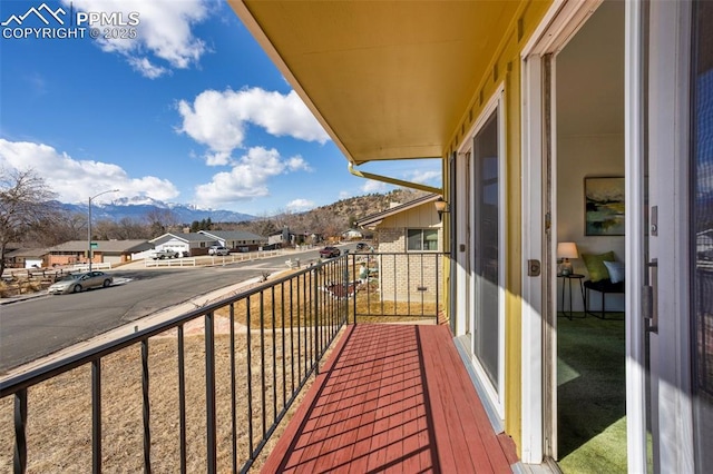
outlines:
[[[558,464],[567,474],[626,473],[624,315],[611,316],[557,318]]]

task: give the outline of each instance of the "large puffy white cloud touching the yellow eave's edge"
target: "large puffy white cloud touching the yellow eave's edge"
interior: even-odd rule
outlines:
[[[208,165],[227,165],[233,150],[243,148],[248,125],[264,128],[275,137],[326,142],[329,136],[302,99],[261,88],[234,91],[206,90],[193,103],[178,102],[183,118],[180,132],[208,147]]]

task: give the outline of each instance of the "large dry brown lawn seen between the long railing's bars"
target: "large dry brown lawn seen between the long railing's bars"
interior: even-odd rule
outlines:
[[[217,465],[219,472],[232,465],[232,407],[237,417],[238,467],[248,455],[248,416],[253,419],[253,446],[262,435],[261,347],[265,353],[266,427],[274,412],[283,409],[282,343],[275,347],[271,335],[264,343],[253,336],[251,347],[253,409],[247,412],[247,343],[245,335],[236,337],[236,401],[231,396],[229,337],[216,336],[216,428]],[[304,344],[304,343],[303,343]],[[287,343],[285,353],[289,353]],[[149,342],[150,454],[152,471],[176,472],[179,466],[179,411],[177,339],[156,337]],[[206,471],[205,415],[205,339],[202,335],[185,338],[186,425],[188,472]],[[277,399],[273,396],[273,361],[276,365]],[[296,368],[295,368],[296,371]],[[304,374],[304,368],[302,369]],[[102,372],[102,466],[107,472],[140,472],[144,466],[141,359],[140,347],[129,347],[106,357]],[[291,389],[292,371],[287,364],[285,378]],[[295,373],[295,384],[299,374]],[[306,388],[305,388],[306,389]],[[303,389],[304,392],[304,389]],[[287,397],[289,397],[287,393]],[[301,397],[299,398],[301,399]],[[299,406],[295,403],[292,411]],[[91,393],[90,367],[80,367],[55,377],[28,392],[28,473],[88,472],[91,466]],[[0,472],[12,471],[13,454],[12,397],[0,401]],[[289,417],[287,417],[289,419]],[[284,419],[282,425],[286,423]],[[257,470],[276,443],[281,427],[265,446],[254,470]]]

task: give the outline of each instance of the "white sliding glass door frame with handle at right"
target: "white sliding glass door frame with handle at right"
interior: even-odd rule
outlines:
[[[632,345],[631,350],[627,348],[627,429],[629,445],[636,443],[633,447],[637,454],[646,452],[646,417],[653,437],[653,466],[643,465],[641,472],[647,467],[654,472],[695,470],[687,245],[691,8],[687,0],[627,2],[631,55],[625,120],[631,140],[627,208],[632,211],[627,213],[626,245],[629,259],[636,260],[627,263],[633,267],[627,275],[626,309],[637,316],[627,319],[627,345]],[[648,249],[648,260],[644,249]],[[646,296],[648,292],[651,297]],[[649,372],[642,373],[647,358]],[[636,375],[632,386],[629,364]]]

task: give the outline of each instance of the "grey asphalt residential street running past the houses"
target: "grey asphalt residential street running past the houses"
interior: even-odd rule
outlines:
[[[285,270],[290,257],[316,259],[318,253],[315,248],[215,267],[146,269],[134,264],[136,269],[111,270],[115,284],[108,288],[4,304],[0,374],[218,288]]]

